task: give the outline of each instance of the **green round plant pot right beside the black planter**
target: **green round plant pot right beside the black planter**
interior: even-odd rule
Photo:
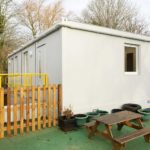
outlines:
[[[77,114],[75,115],[76,124],[78,127],[83,126],[87,122],[88,115],[86,114]]]

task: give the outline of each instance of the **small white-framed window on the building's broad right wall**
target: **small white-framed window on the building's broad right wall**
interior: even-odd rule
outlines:
[[[125,45],[125,72],[138,72],[138,46]]]

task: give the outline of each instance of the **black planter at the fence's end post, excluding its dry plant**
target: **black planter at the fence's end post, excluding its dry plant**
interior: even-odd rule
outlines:
[[[75,117],[71,117],[70,119],[66,119],[65,116],[60,116],[58,119],[58,125],[61,130],[67,132],[76,129],[76,120]]]

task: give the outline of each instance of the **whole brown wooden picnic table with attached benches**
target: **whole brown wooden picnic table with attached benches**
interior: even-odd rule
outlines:
[[[144,136],[146,142],[150,142],[150,128],[144,128],[142,121],[142,115],[130,111],[121,111],[105,116],[101,116],[91,123],[87,123],[85,126],[88,129],[89,137],[94,135],[100,135],[106,139],[111,140],[114,150],[122,150],[125,144],[138,137]],[[132,122],[134,120],[134,123]],[[105,125],[104,131],[98,130],[99,125]],[[123,126],[137,129],[132,133],[125,136],[116,138],[112,133],[112,126],[118,125],[118,130],[121,130]]]

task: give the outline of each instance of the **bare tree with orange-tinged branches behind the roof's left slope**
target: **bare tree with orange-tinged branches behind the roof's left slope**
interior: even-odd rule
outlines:
[[[31,32],[33,38],[64,15],[60,1],[47,4],[45,0],[24,0],[18,8],[19,22]]]

